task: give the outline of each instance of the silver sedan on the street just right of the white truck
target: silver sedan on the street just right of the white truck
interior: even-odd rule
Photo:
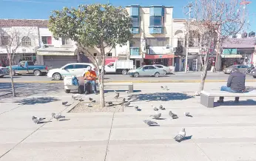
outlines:
[[[129,70],[129,75],[131,75],[132,77],[139,77],[139,76],[159,77],[159,75],[164,75],[164,69],[158,68],[157,66],[153,66],[153,65],[146,65],[146,66],[141,66],[138,69]]]

